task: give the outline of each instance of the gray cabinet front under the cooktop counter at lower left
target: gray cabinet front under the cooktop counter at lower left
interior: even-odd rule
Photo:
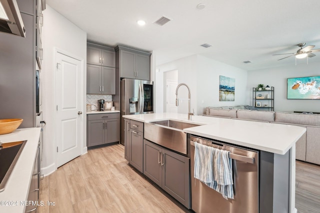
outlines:
[[[29,187],[28,201],[32,201],[31,205],[25,207],[25,213],[36,213],[36,202],[39,200],[40,189],[40,159],[39,159],[39,146],[36,152],[36,157],[33,164],[33,172],[31,176],[31,183]]]

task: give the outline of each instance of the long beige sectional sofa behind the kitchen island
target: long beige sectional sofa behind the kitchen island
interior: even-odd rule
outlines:
[[[306,133],[295,144],[295,158],[320,165],[320,115],[230,108],[206,107],[204,116],[305,127]]]

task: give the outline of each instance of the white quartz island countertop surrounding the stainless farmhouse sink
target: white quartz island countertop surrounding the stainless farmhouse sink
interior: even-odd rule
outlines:
[[[280,155],[284,155],[306,131],[304,127],[295,125],[208,116],[192,116],[192,120],[188,121],[186,114],[177,113],[123,115],[123,117],[144,123],[172,119],[201,124],[201,126],[183,129],[183,131]]]

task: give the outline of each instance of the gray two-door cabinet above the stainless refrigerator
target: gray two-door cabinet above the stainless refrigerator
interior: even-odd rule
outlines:
[[[150,80],[150,53],[122,46],[115,47],[120,78]]]

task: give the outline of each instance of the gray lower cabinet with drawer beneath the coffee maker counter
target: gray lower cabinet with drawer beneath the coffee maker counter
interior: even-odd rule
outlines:
[[[118,142],[120,114],[87,114],[87,147]]]

